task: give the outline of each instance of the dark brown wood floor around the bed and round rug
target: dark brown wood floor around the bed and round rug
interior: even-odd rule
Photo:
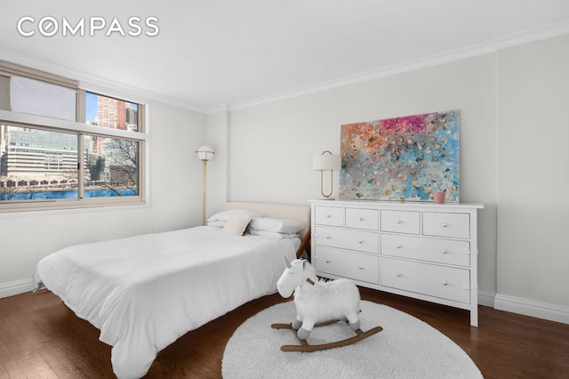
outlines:
[[[361,288],[362,299],[403,310],[458,343],[485,378],[569,378],[569,325],[479,307],[469,312]],[[265,296],[189,332],[161,351],[147,378],[220,378],[236,327],[283,302]],[[0,378],[110,378],[110,346],[48,291],[0,300]],[[316,378],[315,378],[316,379]]]

